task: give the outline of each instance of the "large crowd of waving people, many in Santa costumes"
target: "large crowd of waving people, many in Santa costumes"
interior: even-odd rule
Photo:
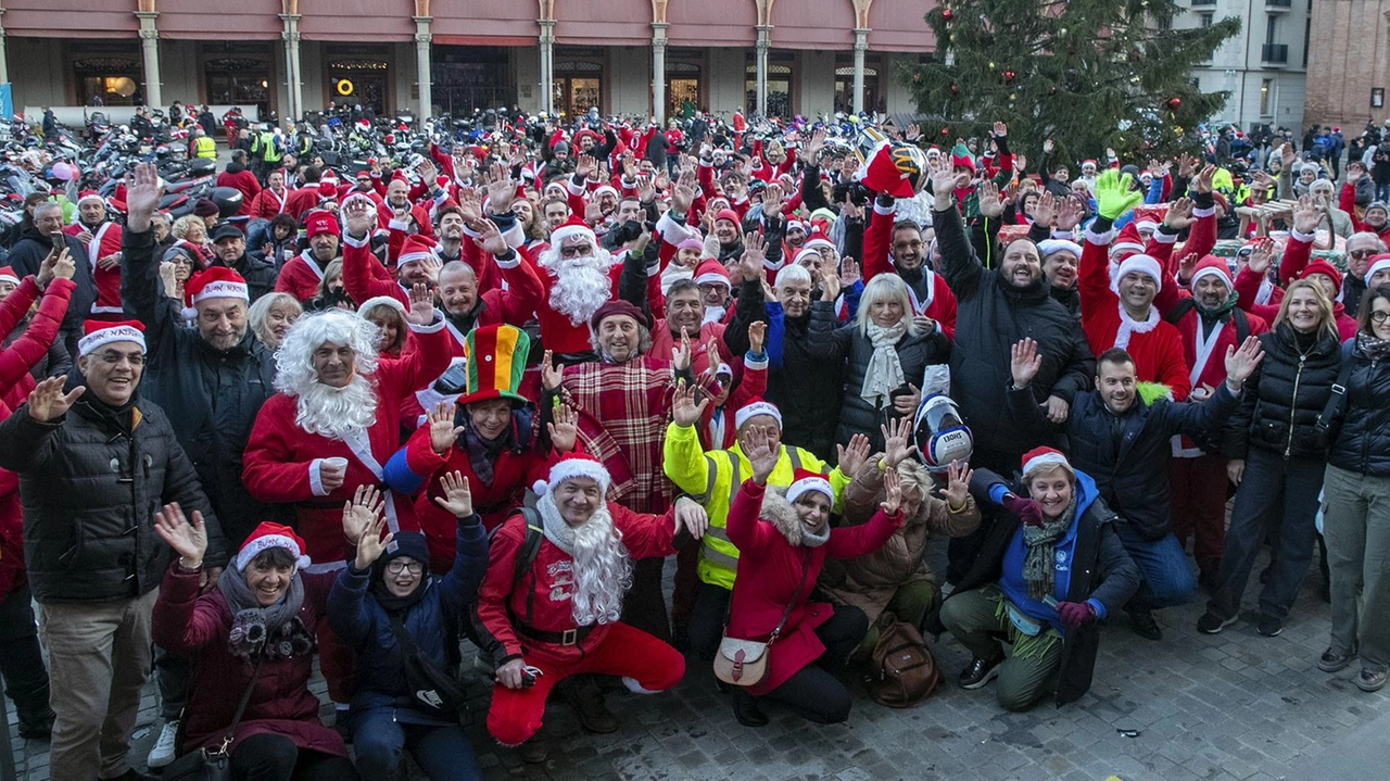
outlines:
[[[1159,639],[1205,592],[1166,631],[1220,632],[1266,546],[1258,634],[1320,550],[1315,663],[1384,687],[1390,224],[1357,161],[1298,189],[1287,143],[1233,178],[1048,142],[1030,171],[998,122],[942,150],[738,120],[518,121],[361,171],[242,150],[229,220],[171,224],[150,165],[32,199],[0,671],[51,775],[145,778],[152,668],[165,778],[477,778],[481,674],[527,762],[552,691],[612,732],[603,678],[687,661],[749,728],[840,723],[895,624],[1002,709],[1065,705],[1099,624]]]

